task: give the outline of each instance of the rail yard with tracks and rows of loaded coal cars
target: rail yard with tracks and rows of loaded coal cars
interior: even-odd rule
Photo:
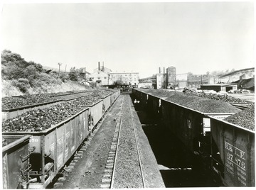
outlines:
[[[254,102],[153,89],[2,99],[4,189],[255,186]]]

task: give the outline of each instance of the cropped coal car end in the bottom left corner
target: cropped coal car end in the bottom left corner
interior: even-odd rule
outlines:
[[[22,189],[29,181],[29,157],[34,147],[29,147],[30,135],[2,136],[3,189]]]

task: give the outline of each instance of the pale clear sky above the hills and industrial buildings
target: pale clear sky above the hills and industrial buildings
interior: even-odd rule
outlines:
[[[150,77],[255,67],[253,1],[14,1],[1,5],[1,51],[69,71],[98,62]],[[76,3],[72,3],[76,2]]]

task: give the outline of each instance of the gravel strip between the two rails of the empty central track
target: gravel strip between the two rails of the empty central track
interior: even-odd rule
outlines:
[[[132,124],[132,113],[129,105],[129,99],[125,97],[114,173],[114,189],[143,188]]]

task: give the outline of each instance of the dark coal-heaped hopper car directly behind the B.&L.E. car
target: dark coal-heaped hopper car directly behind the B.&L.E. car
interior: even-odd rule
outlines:
[[[145,90],[143,91],[146,93]],[[157,99],[157,96],[162,98]],[[211,167],[213,154],[211,131],[214,128],[211,120],[214,118],[223,121],[223,119],[239,113],[240,109],[223,101],[186,95],[176,91],[170,91],[169,94],[151,91],[148,99],[151,99],[148,110],[151,109],[155,113],[159,113],[163,126],[176,135],[188,147],[188,150],[202,161],[203,169],[210,172],[213,169]],[[216,136],[219,137],[220,134]],[[224,144],[222,146],[224,147]],[[225,169],[226,166],[223,167]],[[254,167],[252,168],[254,169]],[[223,184],[232,186],[232,183]]]

